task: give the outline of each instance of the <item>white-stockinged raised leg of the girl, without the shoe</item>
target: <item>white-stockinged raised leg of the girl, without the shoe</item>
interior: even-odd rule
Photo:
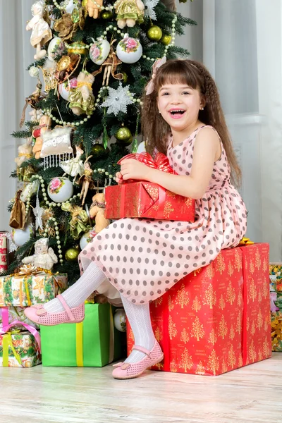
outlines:
[[[62,294],[62,297],[66,301],[68,307],[78,307],[82,302],[87,300],[94,290],[97,290],[98,286],[104,282],[105,278],[106,276],[102,270],[99,269],[97,264],[91,262],[84,274],[82,274],[78,281]],[[64,310],[61,302],[56,298],[44,304],[44,309],[47,309],[49,313],[59,313]]]

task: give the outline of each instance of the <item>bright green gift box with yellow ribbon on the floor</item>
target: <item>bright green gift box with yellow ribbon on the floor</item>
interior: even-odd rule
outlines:
[[[85,304],[78,324],[41,326],[42,364],[58,367],[103,367],[123,354],[124,333],[114,328],[109,304]]]

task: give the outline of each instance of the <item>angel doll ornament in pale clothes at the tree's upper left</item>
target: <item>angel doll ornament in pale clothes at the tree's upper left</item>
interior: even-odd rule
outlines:
[[[42,46],[52,38],[52,32],[48,23],[44,20],[44,1],[38,0],[32,4],[33,18],[27,23],[26,30],[32,30],[30,44],[36,48],[35,60],[46,56],[47,51],[42,50]]]

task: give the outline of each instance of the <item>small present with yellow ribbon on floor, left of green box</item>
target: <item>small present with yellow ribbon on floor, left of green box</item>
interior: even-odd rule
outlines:
[[[27,331],[14,328],[21,324]],[[20,321],[0,329],[0,366],[33,367],[41,364],[41,346],[39,332]]]

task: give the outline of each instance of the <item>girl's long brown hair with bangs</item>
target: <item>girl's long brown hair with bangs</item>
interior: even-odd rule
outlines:
[[[147,152],[153,154],[157,148],[159,152],[166,154],[171,128],[157,108],[159,90],[165,84],[185,84],[193,89],[199,88],[206,102],[204,110],[199,111],[199,120],[205,125],[212,125],[219,133],[231,167],[231,180],[235,185],[240,185],[241,171],[226,126],[216,83],[207,68],[197,61],[171,60],[157,70],[154,91],[149,95],[144,94],[142,99],[141,125]]]

